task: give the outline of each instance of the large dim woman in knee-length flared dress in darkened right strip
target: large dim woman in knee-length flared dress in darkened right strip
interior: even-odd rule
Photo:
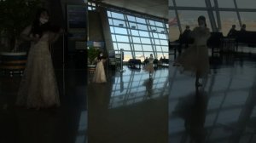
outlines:
[[[206,77],[209,73],[207,40],[211,36],[204,16],[198,18],[198,25],[191,33],[194,38],[193,45],[186,49],[174,63],[176,66],[182,66],[184,72],[195,73],[195,86],[197,87],[202,86],[199,78]]]

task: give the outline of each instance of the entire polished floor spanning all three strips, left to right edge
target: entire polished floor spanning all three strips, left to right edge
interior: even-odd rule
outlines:
[[[83,68],[56,69],[61,107],[38,111],[16,107],[20,77],[2,75],[0,142],[254,143],[255,53],[213,54],[199,90],[176,66],[152,77],[109,68],[108,83],[91,83]]]

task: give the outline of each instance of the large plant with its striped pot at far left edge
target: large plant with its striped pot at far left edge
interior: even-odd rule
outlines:
[[[20,32],[32,24],[41,0],[0,0],[0,69],[22,71],[26,65],[26,52],[20,51]],[[19,52],[18,52],[19,51]]]

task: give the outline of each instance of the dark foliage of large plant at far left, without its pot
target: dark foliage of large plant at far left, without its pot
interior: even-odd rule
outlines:
[[[15,52],[20,45],[20,32],[32,24],[41,0],[0,0],[0,51]]]

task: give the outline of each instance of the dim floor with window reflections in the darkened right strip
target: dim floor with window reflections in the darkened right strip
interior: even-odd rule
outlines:
[[[256,54],[248,54],[253,50],[215,54],[198,91],[195,77],[170,67],[170,143],[256,142]]]

